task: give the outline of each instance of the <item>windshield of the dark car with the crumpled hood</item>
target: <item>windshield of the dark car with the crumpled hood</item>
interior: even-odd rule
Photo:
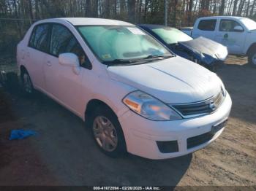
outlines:
[[[192,37],[188,36],[184,32],[170,27],[152,28],[155,34],[161,37],[167,44],[176,44],[178,42],[185,42],[192,40]]]

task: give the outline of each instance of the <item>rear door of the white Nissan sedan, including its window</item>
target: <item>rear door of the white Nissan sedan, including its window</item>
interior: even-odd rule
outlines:
[[[42,66],[48,52],[49,29],[48,23],[35,26],[25,50],[26,69],[29,71],[34,87],[39,89],[45,89]]]

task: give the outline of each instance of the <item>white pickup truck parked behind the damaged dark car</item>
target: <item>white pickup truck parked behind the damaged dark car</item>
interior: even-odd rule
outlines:
[[[181,28],[193,38],[204,36],[227,47],[231,55],[247,55],[256,66],[256,22],[246,17],[200,17],[193,28]]]

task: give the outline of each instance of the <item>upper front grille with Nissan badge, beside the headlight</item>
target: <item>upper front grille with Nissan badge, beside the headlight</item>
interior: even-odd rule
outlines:
[[[184,117],[211,114],[219,108],[224,98],[225,93],[224,90],[221,89],[218,95],[214,96],[213,98],[209,98],[206,101],[197,102],[195,104],[177,104],[172,106]]]

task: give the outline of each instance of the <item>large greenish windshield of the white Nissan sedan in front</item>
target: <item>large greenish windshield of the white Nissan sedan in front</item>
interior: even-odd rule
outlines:
[[[78,31],[102,63],[171,55],[135,26],[78,26]]]

